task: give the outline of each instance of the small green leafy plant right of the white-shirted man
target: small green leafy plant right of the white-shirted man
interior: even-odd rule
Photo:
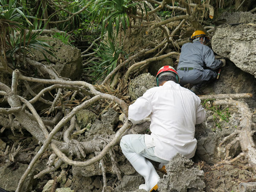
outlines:
[[[229,122],[229,118],[231,117],[229,108],[225,108],[224,110],[221,110],[221,106],[207,105],[208,101],[209,100],[205,100],[202,105],[204,106],[205,109],[213,112],[212,117],[213,117],[213,121],[215,122],[215,126],[216,128],[219,128],[221,130],[222,128],[221,128],[220,122],[221,121]],[[215,128],[213,128],[212,131],[215,131]]]

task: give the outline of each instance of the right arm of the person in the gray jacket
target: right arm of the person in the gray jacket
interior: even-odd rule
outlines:
[[[212,70],[218,69],[222,66],[222,61],[215,59],[215,55],[209,47],[205,47],[205,56],[204,56],[204,63],[206,64],[206,67],[211,68]]]

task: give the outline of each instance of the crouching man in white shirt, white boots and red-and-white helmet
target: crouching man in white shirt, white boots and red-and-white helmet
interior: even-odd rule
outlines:
[[[143,122],[150,115],[151,134],[125,135],[120,141],[123,154],[145,179],[139,189],[147,192],[157,190],[160,179],[148,159],[162,166],[177,153],[192,158],[197,146],[195,124],[206,118],[201,100],[180,86],[173,67],[161,67],[156,81],[158,87],[147,90],[128,110],[128,119],[134,124]]]

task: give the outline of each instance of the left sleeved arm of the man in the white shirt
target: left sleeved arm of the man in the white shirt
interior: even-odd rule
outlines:
[[[149,101],[149,94],[146,92],[138,98],[134,104],[129,106],[128,119],[134,124],[144,122],[143,119],[152,112],[151,104]]]

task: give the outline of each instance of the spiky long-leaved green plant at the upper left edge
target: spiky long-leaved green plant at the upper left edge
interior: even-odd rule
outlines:
[[[41,32],[32,32],[32,29],[35,28],[28,18],[36,18],[24,15],[26,9],[17,6],[17,0],[0,0],[0,39],[4,48],[4,55],[10,56],[14,67],[17,67],[14,61],[15,53],[26,56],[31,54],[31,49],[38,49],[43,54],[43,51],[46,51],[53,55],[51,51],[45,48],[50,48],[48,44],[36,40]],[[38,23],[36,27],[38,27]]]

